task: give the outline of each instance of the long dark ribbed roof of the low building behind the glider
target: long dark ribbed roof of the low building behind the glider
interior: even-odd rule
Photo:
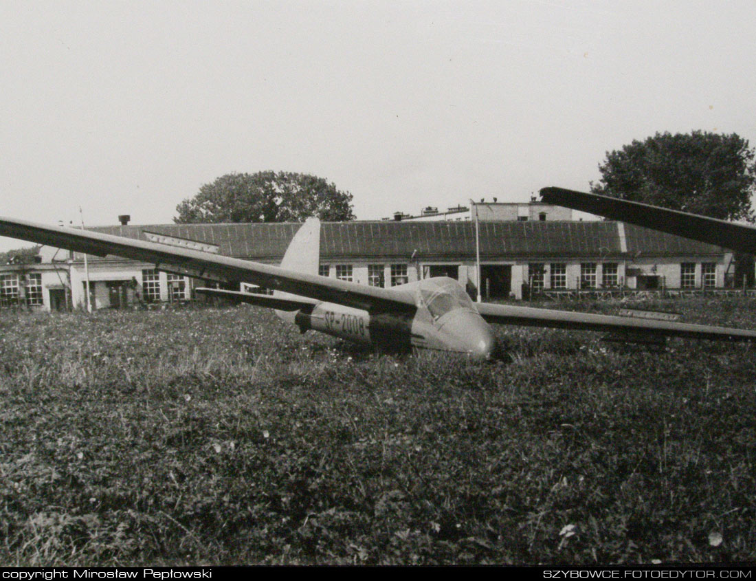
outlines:
[[[277,262],[299,229],[299,223],[160,224],[91,228],[127,238],[143,232],[215,244],[219,253]],[[711,256],[720,247],[626,224],[627,255]],[[623,256],[617,222],[480,222],[482,259],[548,259],[550,257]],[[474,259],[475,222],[324,222],[321,257],[408,259]],[[624,255],[624,256],[627,256]]]

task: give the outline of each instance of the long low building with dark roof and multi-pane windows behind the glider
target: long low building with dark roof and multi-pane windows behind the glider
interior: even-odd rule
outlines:
[[[277,264],[299,224],[120,225],[106,234]],[[392,287],[450,276],[484,300],[575,291],[721,289],[734,269],[720,247],[622,222],[551,220],[325,222],[319,272]],[[222,284],[117,256],[43,247],[40,263],[0,266],[0,306],[93,309],[175,303]]]

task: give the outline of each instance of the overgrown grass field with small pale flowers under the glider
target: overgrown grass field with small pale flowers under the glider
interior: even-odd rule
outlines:
[[[753,300],[646,306],[756,328]],[[0,564],[756,560],[754,347],[500,340],[479,364],[246,306],[0,313]]]

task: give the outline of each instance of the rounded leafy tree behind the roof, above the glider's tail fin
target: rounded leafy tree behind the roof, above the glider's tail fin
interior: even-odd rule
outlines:
[[[355,219],[352,194],[323,178],[291,172],[229,173],[176,207],[178,224],[191,222],[302,222],[310,216]]]

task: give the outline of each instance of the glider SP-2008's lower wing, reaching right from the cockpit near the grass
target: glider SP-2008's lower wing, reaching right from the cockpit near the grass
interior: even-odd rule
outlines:
[[[640,334],[687,337],[689,339],[756,341],[756,331],[708,325],[692,325],[587,312],[535,309],[529,306],[477,303],[476,309],[486,321],[504,325],[528,325],[585,331],[625,331]]]

